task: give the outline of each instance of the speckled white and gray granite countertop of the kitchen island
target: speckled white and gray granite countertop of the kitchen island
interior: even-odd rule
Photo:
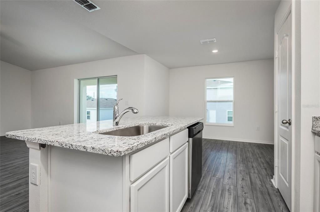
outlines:
[[[194,117],[143,116],[123,118],[120,121],[120,125],[116,127],[113,127],[112,120],[107,120],[12,131],[7,132],[6,137],[110,156],[123,156],[181,129],[187,128],[202,119]],[[168,127],[139,136],[99,134],[136,125],[161,125]]]

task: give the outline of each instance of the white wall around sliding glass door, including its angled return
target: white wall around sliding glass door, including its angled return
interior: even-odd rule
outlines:
[[[146,61],[146,62],[145,62]],[[145,70],[145,66],[147,69]],[[158,73],[164,71],[163,73]],[[74,89],[75,79],[104,77],[117,75],[118,98],[123,98],[119,104],[120,110],[129,106],[136,107],[138,114],[126,113],[126,117],[142,115],[168,115],[166,91],[158,91],[161,84],[167,84],[166,68],[146,55],[133,55],[100,61],[85,62],[68,66],[32,71],[32,128],[74,123]],[[146,76],[145,76],[146,74]],[[152,78],[156,75],[158,79]],[[148,80],[159,80],[153,83],[149,91]],[[159,95],[163,101],[153,97],[148,107],[148,93]]]

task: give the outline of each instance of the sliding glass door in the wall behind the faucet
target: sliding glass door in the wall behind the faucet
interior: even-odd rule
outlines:
[[[117,77],[80,79],[79,122],[112,120],[117,90]]]

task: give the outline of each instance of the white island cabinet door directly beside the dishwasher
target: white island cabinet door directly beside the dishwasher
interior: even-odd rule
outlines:
[[[188,143],[170,155],[170,212],[179,212],[188,197]]]

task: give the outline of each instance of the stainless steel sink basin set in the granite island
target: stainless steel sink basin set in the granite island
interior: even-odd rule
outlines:
[[[158,126],[158,125],[138,125],[123,129],[112,130],[109,132],[99,133],[102,135],[116,135],[116,136],[138,136],[145,135],[147,133],[154,132],[159,129],[166,128],[168,126]]]

